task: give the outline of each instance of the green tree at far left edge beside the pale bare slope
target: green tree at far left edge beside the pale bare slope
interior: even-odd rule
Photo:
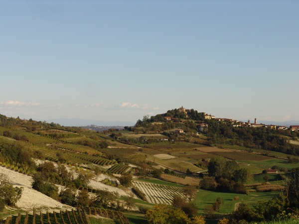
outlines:
[[[21,198],[22,190],[20,187],[13,187],[9,183],[7,176],[0,174],[0,212],[4,209],[5,205],[14,206]]]

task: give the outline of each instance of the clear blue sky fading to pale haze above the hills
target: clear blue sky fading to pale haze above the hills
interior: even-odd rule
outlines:
[[[0,0],[0,114],[299,120],[298,0]]]

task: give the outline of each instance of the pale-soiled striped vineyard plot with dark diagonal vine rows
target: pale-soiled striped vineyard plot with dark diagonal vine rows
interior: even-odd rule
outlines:
[[[134,181],[134,187],[141,190],[149,203],[171,205],[174,196],[178,195],[183,198],[180,187],[153,184],[142,181]]]

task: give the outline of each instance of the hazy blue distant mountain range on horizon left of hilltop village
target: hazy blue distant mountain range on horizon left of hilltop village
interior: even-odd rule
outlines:
[[[136,123],[132,121],[105,121],[105,120],[93,120],[93,119],[80,119],[80,118],[53,118],[47,119],[48,123],[54,122],[63,126],[134,126]]]

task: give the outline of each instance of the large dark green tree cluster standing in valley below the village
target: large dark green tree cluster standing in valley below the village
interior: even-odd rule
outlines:
[[[236,161],[213,157],[208,163],[208,174],[200,182],[202,189],[247,194],[244,184],[251,178],[251,173],[240,168]]]

